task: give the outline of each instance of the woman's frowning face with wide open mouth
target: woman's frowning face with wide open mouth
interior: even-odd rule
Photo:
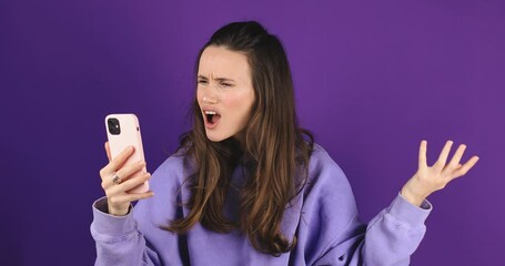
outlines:
[[[196,98],[209,140],[220,142],[234,136],[241,141],[254,103],[246,55],[208,47],[200,58]]]

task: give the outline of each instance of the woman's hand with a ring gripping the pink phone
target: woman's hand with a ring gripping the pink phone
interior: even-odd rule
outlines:
[[[123,216],[128,214],[131,202],[148,198],[154,195],[151,191],[145,193],[128,193],[131,188],[150,180],[151,174],[143,173],[142,175],[131,177],[139,171],[142,171],[145,166],[144,161],[124,165],[124,162],[127,162],[133,153],[133,146],[127,147],[113,160],[111,160],[111,152],[108,142],[105,142],[105,151],[107,156],[109,157],[109,164],[100,170],[100,177],[102,177],[102,187],[107,195],[109,214]],[[123,182],[119,184],[114,183],[112,181],[114,173]]]

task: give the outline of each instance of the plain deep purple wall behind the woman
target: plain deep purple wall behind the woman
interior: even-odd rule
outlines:
[[[499,265],[505,241],[503,1],[0,1],[0,265],[91,265],[103,117],[134,112],[150,171],[189,127],[199,48],[255,19],[284,42],[302,125],[365,221],[451,139],[481,156],[430,197],[413,265]]]

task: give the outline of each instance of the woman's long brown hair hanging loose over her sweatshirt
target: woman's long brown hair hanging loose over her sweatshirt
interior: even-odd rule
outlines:
[[[186,233],[195,223],[214,232],[239,229],[256,250],[279,256],[290,252],[296,238],[281,232],[284,209],[307,178],[313,150],[312,134],[299,127],[293,81],[284,48],[255,21],[234,22],[219,29],[200,50],[210,45],[243,52],[251,66],[255,102],[244,129],[243,143],[230,137],[211,142],[203,125],[198,100],[193,102],[193,129],[181,137],[180,151],[191,158],[195,172],[188,181],[191,190],[186,217],[172,221],[166,229]],[[240,190],[240,218],[229,221],[223,213],[230,177],[244,164],[251,173]]]

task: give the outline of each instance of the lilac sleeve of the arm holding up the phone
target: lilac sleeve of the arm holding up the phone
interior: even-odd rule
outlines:
[[[98,200],[90,228],[95,265],[188,265],[179,235],[162,228],[182,217],[179,191],[185,176],[184,160],[175,154],[152,174],[150,190],[155,195],[139,201],[125,216],[109,215],[107,197]]]

